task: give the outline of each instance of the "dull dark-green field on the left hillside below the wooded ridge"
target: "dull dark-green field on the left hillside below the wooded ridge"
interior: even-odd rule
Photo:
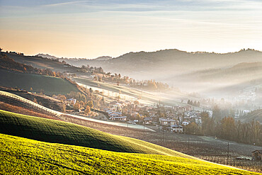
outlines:
[[[6,69],[0,69],[0,74],[0,86],[18,87],[27,91],[32,87],[33,91],[43,89],[45,94],[67,94],[70,91],[79,91],[66,79],[40,74],[11,72]]]

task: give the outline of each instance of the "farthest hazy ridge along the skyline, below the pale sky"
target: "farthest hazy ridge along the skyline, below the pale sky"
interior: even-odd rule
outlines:
[[[130,52],[111,60],[65,60],[69,64],[76,66],[89,64],[90,66],[103,67],[107,72],[117,72],[127,74],[140,79],[154,79],[164,77],[166,71],[171,73],[183,73],[197,71],[201,69],[217,69],[222,67],[232,67],[241,62],[260,62],[262,52],[256,50],[241,50],[226,54],[208,52],[184,52],[181,50],[159,50],[156,52]],[[151,72],[152,74],[141,75],[141,73]],[[140,74],[142,77],[137,77]],[[147,78],[146,78],[146,77]]]

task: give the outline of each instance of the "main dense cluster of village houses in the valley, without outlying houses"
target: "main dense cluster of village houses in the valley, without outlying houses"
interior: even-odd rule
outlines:
[[[157,107],[135,105],[130,101],[112,101],[104,109],[110,120],[128,121],[144,125],[157,125],[162,130],[182,133],[186,125],[202,123],[200,111],[192,106]],[[125,115],[123,115],[125,113]],[[137,117],[138,118],[134,118]]]

